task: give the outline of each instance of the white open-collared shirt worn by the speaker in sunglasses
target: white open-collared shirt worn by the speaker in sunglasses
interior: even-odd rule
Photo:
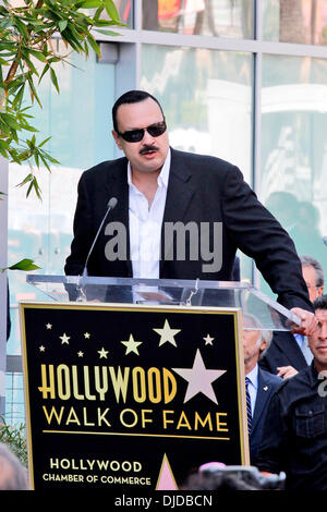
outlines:
[[[166,205],[170,159],[169,149],[158,175],[158,188],[150,207],[144,194],[132,183],[130,162],[128,164],[130,254],[133,278],[159,279],[161,225]]]

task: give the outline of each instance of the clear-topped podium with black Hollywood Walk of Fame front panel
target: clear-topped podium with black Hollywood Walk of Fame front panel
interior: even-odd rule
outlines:
[[[296,316],[242,282],[27,282],[46,297],[20,305],[34,489],[177,490],[250,464],[242,329]]]

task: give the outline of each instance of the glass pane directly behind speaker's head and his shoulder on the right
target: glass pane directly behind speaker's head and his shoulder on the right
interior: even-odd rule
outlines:
[[[141,88],[162,105],[171,146],[231,161],[251,183],[252,54],[155,45],[142,48]],[[242,278],[250,279],[245,260]]]

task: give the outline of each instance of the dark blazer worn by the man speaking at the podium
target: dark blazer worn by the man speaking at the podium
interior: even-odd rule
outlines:
[[[87,270],[89,276],[132,277],[126,169],[126,158],[120,158],[99,163],[82,174],[74,218],[74,240],[64,267],[66,275],[82,273],[108,200],[117,197],[118,204],[110,211],[107,222],[120,222],[125,227],[126,257],[110,261],[107,259],[105,247],[110,236],[105,234],[104,228],[88,260]],[[190,241],[186,236],[185,260],[178,260],[175,247],[170,253],[170,259],[161,257],[161,279],[231,280],[235,252],[240,248],[255,259],[257,268],[283,306],[313,310],[293,242],[257,200],[237,167],[215,157],[171,149],[162,234],[167,222],[177,221],[184,225],[195,222],[198,230],[202,222],[209,225],[211,249],[215,246],[214,225],[221,222],[221,267],[214,272],[207,271],[203,265],[208,261],[202,254],[196,260],[190,258]],[[117,233],[112,236],[117,237]],[[162,235],[162,255],[167,252],[164,240]]]

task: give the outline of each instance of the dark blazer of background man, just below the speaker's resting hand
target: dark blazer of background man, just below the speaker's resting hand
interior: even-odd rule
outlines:
[[[261,368],[271,374],[278,373],[278,366],[293,366],[298,371],[307,366],[295,338],[289,331],[274,332],[270,345],[258,364]]]

